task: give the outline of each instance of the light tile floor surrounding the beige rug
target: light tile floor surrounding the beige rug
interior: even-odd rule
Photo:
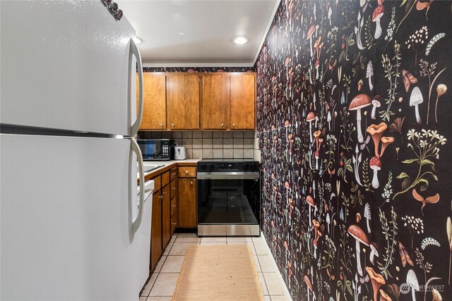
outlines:
[[[259,238],[206,237],[194,233],[174,233],[148,283],[141,291],[140,301],[171,300],[189,245],[249,245],[254,254],[256,269],[266,301],[292,300],[278,271],[267,243]]]

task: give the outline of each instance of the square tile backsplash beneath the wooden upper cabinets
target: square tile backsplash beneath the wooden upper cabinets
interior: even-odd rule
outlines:
[[[187,159],[260,159],[253,130],[234,132],[140,132],[141,138],[174,139],[186,147]]]

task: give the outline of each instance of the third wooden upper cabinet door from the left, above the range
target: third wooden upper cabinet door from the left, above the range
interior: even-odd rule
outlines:
[[[225,130],[228,126],[230,75],[206,73],[201,75],[202,128]]]

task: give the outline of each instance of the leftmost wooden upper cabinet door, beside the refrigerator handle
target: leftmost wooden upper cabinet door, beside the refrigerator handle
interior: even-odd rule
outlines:
[[[136,82],[138,99],[138,79]],[[164,130],[167,128],[165,82],[165,74],[143,73],[144,103],[140,130]]]

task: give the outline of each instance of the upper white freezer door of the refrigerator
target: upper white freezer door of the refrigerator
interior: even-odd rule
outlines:
[[[0,14],[1,123],[131,135],[135,30],[125,17],[100,0],[0,1]]]

